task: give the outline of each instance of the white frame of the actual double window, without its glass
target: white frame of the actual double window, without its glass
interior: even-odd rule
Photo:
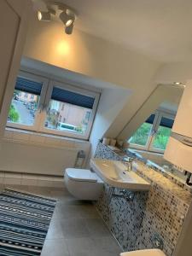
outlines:
[[[34,73],[29,73],[25,71],[20,71],[17,77],[23,77],[26,79],[31,79],[32,81],[37,81],[43,83],[41,94],[39,96],[38,102],[38,110],[35,115],[34,125],[22,125],[14,122],[7,121],[7,127],[20,129],[24,131],[37,131],[49,135],[57,135],[61,137],[71,137],[74,139],[83,139],[88,140],[90,137],[90,131],[96,117],[96,109],[98,106],[98,102],[100,99],[100,93],[94,90],[87,90],[77,85],[68,84],[67,82],[57,81],[56,79],[45,78],[40,75],[36,75]],[[52,90],[54,87],[58,87],[63,90],[71,90],[76,93],[82,94],[84,96],[92,96],[94,97],[93,108],[91,109],[91,117],[89,120],[89,124],[87,126],[86,132],[84,134],[78,134],[73,131],[57,131],[54,129],[49,129],[44,126],[44,122],[47,116],[47,109],[49,108],[49,101],[51,100]],[[75,106],[75,105],[74,105]]]

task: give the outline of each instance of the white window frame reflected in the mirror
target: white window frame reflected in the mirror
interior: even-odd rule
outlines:
[[[140,149],[140,150],[153,152],[153,153],[164,154],[165,149],[160,149],[160,148],[154,148],[153,147],[154,138],[155,138],[155,135],[156,135],[156,133],[158,131],[158,128],[160,126],[160,121],[161,121],[162,117],[166,117],[166,118],[174,120],[175,116],[176,116],[176,114],[168,112],[166,110],[162,110],[162,109],[156,110],[154,112],[154,122],[153,122],[153,125],[151,127],[151,131],[148,134],[148,142],[146,143],[145,146],[130,143],[131,148]]]

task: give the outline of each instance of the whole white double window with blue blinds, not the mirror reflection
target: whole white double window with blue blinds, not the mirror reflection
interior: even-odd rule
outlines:
[[[98,98],[96,92],[20,73],[8,126],[87,139]]]

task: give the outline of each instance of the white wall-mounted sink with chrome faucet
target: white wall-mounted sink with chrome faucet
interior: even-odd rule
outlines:
[[[116,160],[91,159],[90,167],[108,185],[129,190],[148,190],[150,184],[136,172],[127,171],[127,166]]]

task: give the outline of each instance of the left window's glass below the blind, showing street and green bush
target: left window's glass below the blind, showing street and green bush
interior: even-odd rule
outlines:
[[[15,90],[9,108],[8,121],[20,125],[34,125],[38,102],[38,95]]]

